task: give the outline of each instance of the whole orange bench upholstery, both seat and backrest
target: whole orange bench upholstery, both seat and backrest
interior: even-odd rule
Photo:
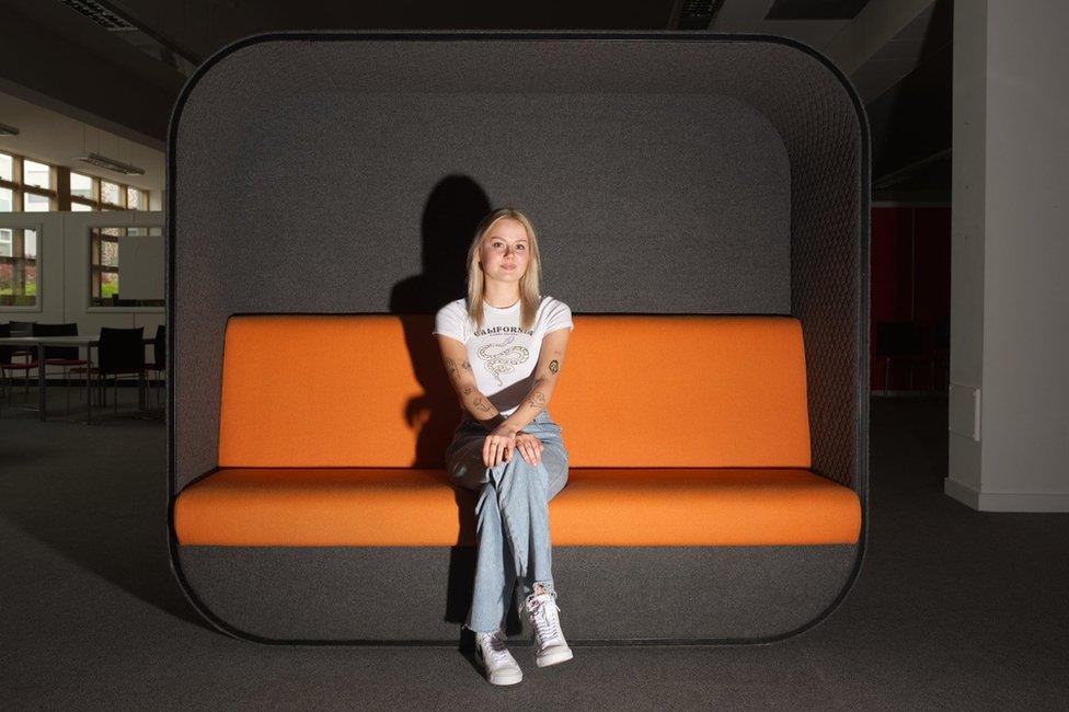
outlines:
[[[852,543],[857,494],[809,470],[791,317],[577,314],[549,411],[570,453],[554,544]],[[219,471],[183,544],[473,546],[444,456],[460,409],[426,314],[235,315]],[[478,364],[473,364],[479,367]]]

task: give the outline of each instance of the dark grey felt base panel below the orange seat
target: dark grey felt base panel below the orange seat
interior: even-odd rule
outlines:
[[[230,627],[275,641],[335,642],[456,641],[471,604],[473,551],[179,547],[197,596]],[[555,547],[553,579],[573,641],[771,638],[831,605],[855,551]],[[506,623],[515,638],[529,638],[529,624],[515,611]]]

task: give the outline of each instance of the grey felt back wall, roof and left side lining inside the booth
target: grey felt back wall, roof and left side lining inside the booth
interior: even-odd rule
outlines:
[[[433,313],[492,205],[530,211],[543,292],[574,312],[790,313],[786,149],[706,73],[744,45],[656,43],[662,65],[642,43],[460,44],[255,44],[194,85],[174,146],[180,487],[215,466],[227,315]]]

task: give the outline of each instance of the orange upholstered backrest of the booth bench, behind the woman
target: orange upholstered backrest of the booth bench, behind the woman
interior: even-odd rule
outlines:
[[[460,410],[419,318],[231,317],[219,464],[440,468]],[[548,406],[572,467],[809,467],[797,319],[573,322]]]

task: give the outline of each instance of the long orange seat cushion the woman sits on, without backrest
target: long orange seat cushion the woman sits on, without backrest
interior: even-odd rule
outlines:
[[[182,544],[474,546],[478,493],[440,470],[228,468],[186,487]],[[858,496],[804,469],[573,469],[554,546],[853,543]]]

